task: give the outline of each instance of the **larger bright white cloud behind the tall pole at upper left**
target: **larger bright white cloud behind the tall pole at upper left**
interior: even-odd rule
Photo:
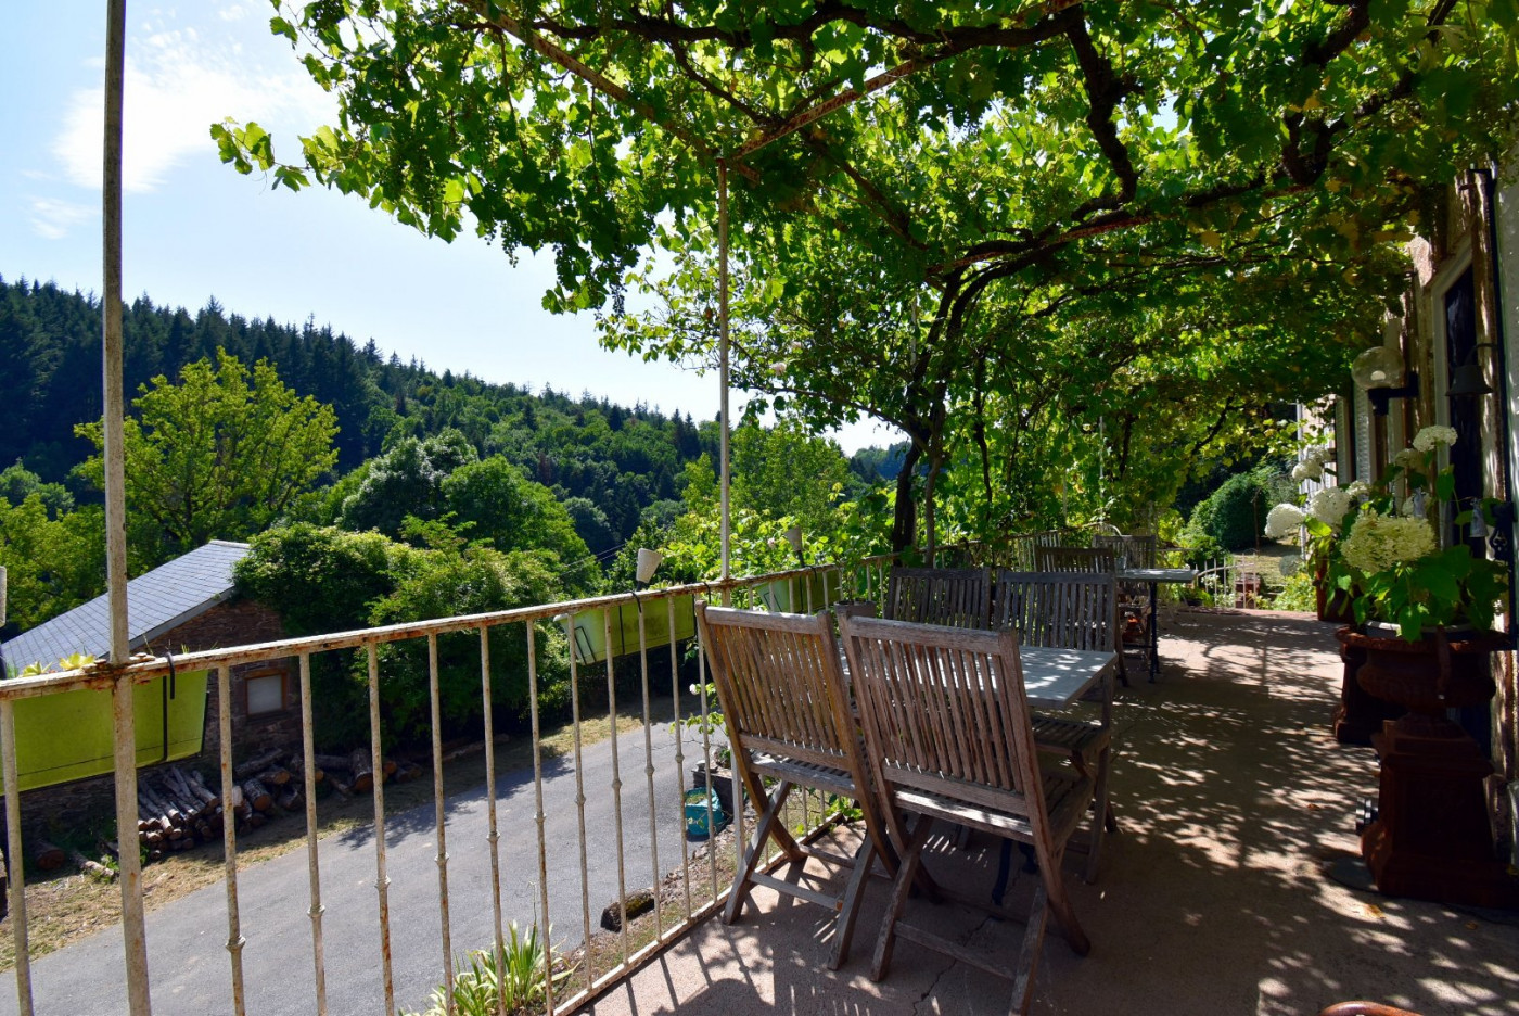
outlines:
[[[331,117],[333,100],[299,68],[269,71],[232,38],[207,41],[193,27],[144,30],[129,39],[122,187],[152,191],[196,152],[213,152],[210,128],[225,117],[257,120],[293,141]],[[73,184],[100,187],[105,88],[76,91],[53,138]],[[289,147],[295,155],[293,147]],[[279,153],[281,149],[276,149]]]

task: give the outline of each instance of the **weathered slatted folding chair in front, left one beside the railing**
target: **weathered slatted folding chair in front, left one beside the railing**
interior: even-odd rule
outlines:
[[[828,612],[764,614],[705,604],[697,607],[696,620],[723,706],[734,765],[750,799],[763,808],[743,864],[734,875],[723,922],[738,919],[755,885],[820,904],[838,914],[828,961],[829,969],[837,970],[849,955],[872,864],[880,858],[893,875],[898,855],[886,838],[878,802],[869,790],[832,621]],[[767,778],[776,781],[769,791]],[[797,843],[787,831],[781,809],[793,787],[860,802],[864,838],[852,858]],[[769,840],[791,861],[790,878],[760,872]],[[807,858],[852,869],[840,896],[799,882]]]

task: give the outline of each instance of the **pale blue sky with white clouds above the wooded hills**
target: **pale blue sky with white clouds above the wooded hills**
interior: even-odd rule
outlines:
[[[717,413],[717,378],[602,349],[589,316],[541,298],[548,255],[472,235],[427,238],[325,190],[275,191],[222,166],[208,128],[255,120],[275,153],[331,118],[263,0],[128,5],[125,293],[194,311],[299,323],[313,316],[404,360],[664,410]],[[0,38],[0,275],[100,290],[105,5],[15,5]],[[281,146],[283,143],[283,146]],[[743,404],[735,398],[735,413]],[[861,424],[846,451],[892,437]]]

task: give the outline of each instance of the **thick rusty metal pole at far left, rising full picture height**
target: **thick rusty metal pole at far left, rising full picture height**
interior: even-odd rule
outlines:
[[[105,560],[106,600],[111,612],[111,662],[131,653],[126,626],[126,433],[122,381],[122,94],[126,79],[126,0],[106,3],[105,41],[105,152],[102,164],[102,383],[105,386]],[[115,828],[120,840],[137,828],[137,737],[132,685],[112,686],[115,727]],[[147,990],[147,929],[143,914],[143,861],[137,850],[122,850],[122,937],[126,952],[126,999],[132,1016],[152,1013]]]

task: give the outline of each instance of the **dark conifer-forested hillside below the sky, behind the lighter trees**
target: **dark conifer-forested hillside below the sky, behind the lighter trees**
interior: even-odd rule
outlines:
[[[679,495],[687,462],[703,451],[715,459],[715,433],[703,436],[690,413],[439,375],[310,320],[295,328],[248,319],[214,299],[191,314],[147,296],[123,308],[123,317],[129,398],[156,375],[175,378],[187,363],[214,360],[217,348],[245,364],[267,358],[299,395],[333,407],[339,474],[387,442],[453,427],[482,456],[501,454],[551,487],[583,533],[600,533],[586,541],[597,553],[626,541],[643,509]],[[43,480],[68,480],[93,451],[74,437],[74,425],[102,413],[99,301],[52,282],[0,278],[0,404],[8,409],[0,466],[21,460]]]

